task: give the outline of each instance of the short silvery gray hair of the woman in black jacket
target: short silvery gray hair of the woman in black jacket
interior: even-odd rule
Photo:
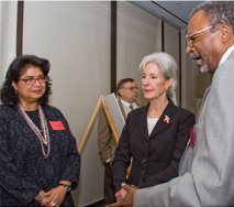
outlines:
[[[164,75],[165,79],[174,78],[174,84],[167,90],[167,98],[170,99],[174,95],[174,91],[177,87],[177,63],[175,58],[164,52],[156,52],[143,57],[138,69],[142,73],[145,68],[145,65],[148,63],[156,63]]]

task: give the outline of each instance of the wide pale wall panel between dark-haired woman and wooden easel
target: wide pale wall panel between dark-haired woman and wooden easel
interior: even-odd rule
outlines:
[[[110,92],[110,2],[25,1],[23,53],[51,61],[51,103],[63,111],[79,145],[100,95]],[[103,197],[97,124],[81,157],[78,206]]]

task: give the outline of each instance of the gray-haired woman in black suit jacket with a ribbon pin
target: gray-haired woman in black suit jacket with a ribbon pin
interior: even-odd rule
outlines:
[[[145,188],[178,176],[179,161],[194,124],[194,115],[171,101],[177,85],[172,56],[149,54],[142,59],[140,70],[144,97],[149,102],[129,113],[115,150],[113,177],[118,201],[126,195],[122,183]]]

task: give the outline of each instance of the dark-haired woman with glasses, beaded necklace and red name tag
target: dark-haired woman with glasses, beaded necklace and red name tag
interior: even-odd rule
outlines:
[[[80,155],[63,113],[48,105],[51,64],[34,55],[9,66],[0,95],[0,206],[74,206]]]

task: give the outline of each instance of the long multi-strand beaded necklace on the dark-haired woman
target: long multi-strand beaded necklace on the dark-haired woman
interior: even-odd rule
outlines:
[[[26,121],[26,123],[30,126],[30,128],[34,131],[34,133],[37,135],[40,142],[41,142],[41,148],[42,148],[42,153],[45,159],[48,157],[48,154],[51,152],[51,141],[49,141],[49,134],[48,134],[48,126],[45,120],[44,112],[42,110],[42,107],[38,103],[38,117],[40,117],[40,122],[41,122],[41,128],[43,131],[42,132],[38,130],[38,128],[33,123],[33,121],[30,119],[30,117],[26,115],[24,109],[21,107],[20,103],[18,103],[18,111],[20,115],[23,117],[23,119]],[[44,145],[47,146],[47,153],[45,153]]]

